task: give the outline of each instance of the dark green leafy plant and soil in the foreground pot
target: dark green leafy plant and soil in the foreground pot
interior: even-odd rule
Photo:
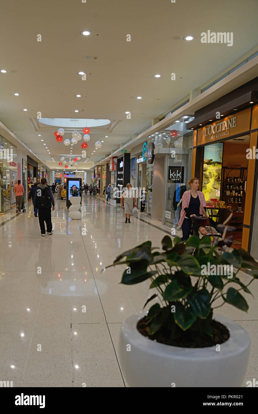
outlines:
[[[258,263],[244,249],[221,254],[219,246],[231,245],[233,238],[225,239],[226,224],[219,226],[223,236],[217,244],[211,244],[211,236],[204,236],[201,240],[192,236],[186,243],[178,237],[172,241],[165,236],[162,252],[152,247],[151,241],[146,241],[114,260],[111,266],[127,266],[122,284],[137,284],[150,279],[149,289],[158,291],[145,303],[144,308],[149,301],[156,299],[137,325],[143,335],[181,347],[212,346],[225,342],[229,337],[227,328],[223,330],[223,325],[212,319],[214,309],[229,303],[247,312],[248,304],[239,291],[251,294],[248,285],[258,278]],[[229,230],[233,229],[229,227]],[[204,265],[206,268],[215,265],[216,271],[203,274]],[[236,272],[228,278],[227,274],[217,271],[222,269],[218,265],[232,265]],[[252,275],[248,284],[241,282],[237,275],[245,268],[250,269]],[[163,306],[160,306],[159,299]]]

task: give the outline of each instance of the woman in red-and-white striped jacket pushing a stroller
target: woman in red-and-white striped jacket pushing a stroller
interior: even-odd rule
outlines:
[[[188,181],[188,185],[190,185],[190,190],[183,193],[181,216],[178,222],[183,232],[183,237],[181,237],[182,241],[186,241],[190,236],[192,224],[190,217],[193,217],[194,215],[203,215],[201,206],[206,206],[204,194],[201,191],[198,191],[198,178],[191,178]],[[185,211],[185,209],[187,209],[187,211]]]

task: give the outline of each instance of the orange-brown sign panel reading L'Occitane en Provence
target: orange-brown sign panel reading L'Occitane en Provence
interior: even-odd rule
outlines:
[[[242,132],[250,130],[251,108],[225,117],[223,120],[211,123],[210,125],[198,128],[197,145],[207,144],[207,142],[222,140]]]

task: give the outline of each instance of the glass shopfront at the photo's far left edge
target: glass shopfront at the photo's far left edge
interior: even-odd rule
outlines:
[[[0,213],[16,207],[17,148],[0,135]]]

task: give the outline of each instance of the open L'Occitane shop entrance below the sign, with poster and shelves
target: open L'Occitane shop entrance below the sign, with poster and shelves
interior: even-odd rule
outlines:
[[[222,224],[232,213],[229,226],[235,231],[232,248],[242,243],[250,135],[198,148],[203,151],[202,188],[207,212],[215,224]]]

